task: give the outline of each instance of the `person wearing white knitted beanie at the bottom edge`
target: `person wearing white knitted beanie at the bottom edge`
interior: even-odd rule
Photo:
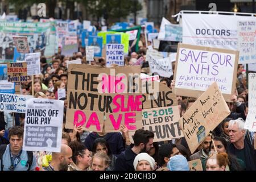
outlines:
[[[133,166],[135,171],[154,171],[155,159],[143,152],[135,157]]]

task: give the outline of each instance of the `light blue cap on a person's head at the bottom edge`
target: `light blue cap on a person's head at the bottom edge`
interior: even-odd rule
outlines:
[[[189,171],[188,161],[183,155],[172,156],[167,167],[170,171]]]

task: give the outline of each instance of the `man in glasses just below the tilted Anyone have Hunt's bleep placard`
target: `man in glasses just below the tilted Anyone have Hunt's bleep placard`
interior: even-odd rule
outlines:
[[[210,142],[212,141],[212,138],[210,135],[208,135],[204,141],[201,144],[201,149],[196,152],[195,154],[191,155],[190,158],[191,160],[196,160],[196,159],[207,159],[209,156],[209,151],[210,151]]]

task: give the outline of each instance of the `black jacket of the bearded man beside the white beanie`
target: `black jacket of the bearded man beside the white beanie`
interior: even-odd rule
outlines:
[[[114,171],[135,171],[133,162],[137,154],[135,154],[131,148],[132,147],[129,146],[125,151],[117,156]]]

